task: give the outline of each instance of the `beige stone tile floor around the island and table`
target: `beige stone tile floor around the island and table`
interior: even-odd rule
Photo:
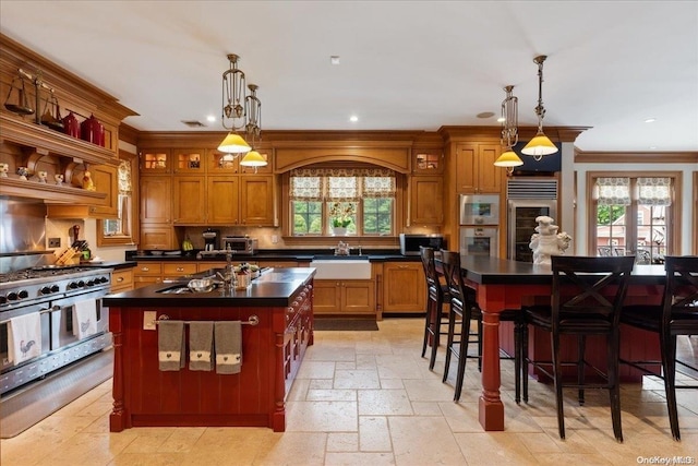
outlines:
[[[478,423],[479,373],[468,362],[460,403],[420,357],[422,320],[387,319],[380,332],[316,332],[288,401],[287,431],[263,428],[137,428],[110,433],[110,381],[1,443],[2,466],[29,465],[635,465],[698,462],[698,395],[679,392],[682,442],[669,430],[661,383],[624,385],[625,442],[613,438],[605,392],[565,405],[557,435],[551,387],[532,382],[528,405],[502,361],[506,431]],[[694,337],[698,345],[698,337]],[[455,365],[452,365],[455,366]],[[650,463],[653,462],[653,463]]]

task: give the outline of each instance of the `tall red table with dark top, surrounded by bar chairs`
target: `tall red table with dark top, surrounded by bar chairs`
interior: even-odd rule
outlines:
[[[478,303],[483,315],[482,394],[478,408],[480,425],[485,431],[504,430],[504,404],[500,396],[500,348],[513,351],[514,344],[512,328],[500,326],[500,312],[504,309],[520,309],[521,306],[533,302],[550,302],[552,272],[550,265],[506,259],[473,255],[461,255],[460,259],[466,282],[478,291]],[[636,265],[626,303],[660,302],[664,277],[663,265]],[[630,327],[621,330],[622,358],[633,354],[635,360],[638,359],[637,356],[647,358],[645,360],[659,359],[659,342],[647,332],[642,332],[641,337],[637,337],[634,332],[642,331]],[[534,359],[547,356],[546,359],[550,360],[547,334],[529,333],[529,355]],[[603,355],[600,351],[599,357],[605,357]],[[641,380],[641,373],[637,370],[629,367],[623,370],[623,381]]]

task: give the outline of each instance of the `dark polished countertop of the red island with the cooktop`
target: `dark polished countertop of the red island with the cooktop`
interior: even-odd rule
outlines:
[[[215,271],[215,270],[214,270]],[[149,285],[103,298],[107,307],[127,308],[194,308],[194,307],[250,307],[278,308],[291,304],[291,298],[315,275],[314,268],[272,268],[252,280],[244,290],[215,288],[209,292],[164,294],[163,290],[186,287],[191,278],[203,278],[210,271],[165,284]]]

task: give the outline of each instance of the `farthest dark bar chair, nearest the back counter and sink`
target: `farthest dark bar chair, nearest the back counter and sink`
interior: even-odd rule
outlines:
[[[441,283],[436,264],[434,262],[434,248],[421,246],[420,256],[424,267],[426,280],[426,316],[424,319],[424,342],[422,344],[422,358],[426,354],[426,346],[432,345],[429,358],[429,369],[434,369],[436,353],[441,343],[441,335],[448,325],[448,316],[444,313],[444,303],[450,303],[448,286]]]

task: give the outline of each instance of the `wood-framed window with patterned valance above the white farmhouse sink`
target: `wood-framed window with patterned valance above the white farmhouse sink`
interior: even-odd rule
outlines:
[[[395,172],[303,168],[289,178],[293,236],[394,236]]]

